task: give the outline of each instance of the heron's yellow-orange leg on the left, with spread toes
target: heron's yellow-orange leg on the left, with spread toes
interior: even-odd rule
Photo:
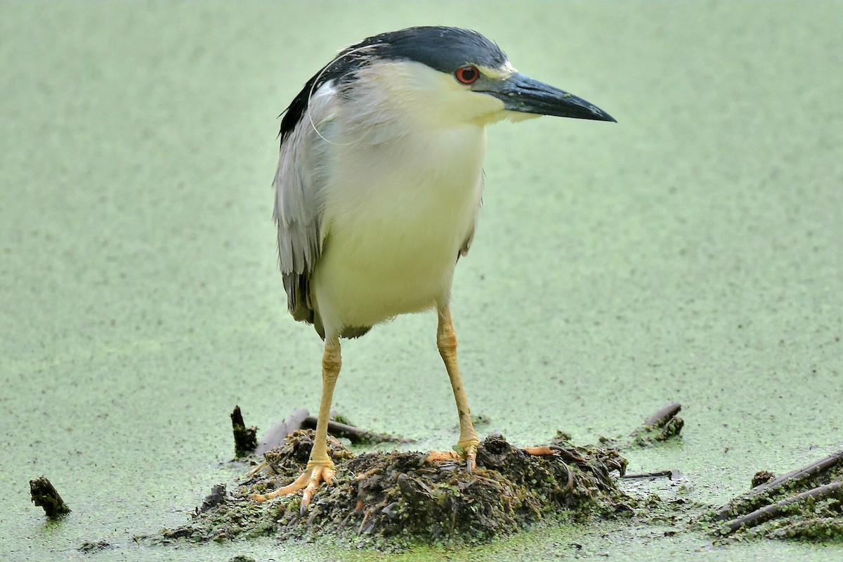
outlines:
[[[316,420],[314,448],[310,451],[308,467],[293,483],[287,484],[269,494],[254,494],[253,500],[266,501],[279,495],[289,495],[304,490],[302,494],[302,512],[307,511],[310,500],[322,482],[336,480],[334,462],[328,456],[328,419],[330,403],[334,398],[336,378],[340,375],[342,357],[340,339],[337,336],[325,340],[325,353],[322,356],[322,400],[319,403],[319,417]]]

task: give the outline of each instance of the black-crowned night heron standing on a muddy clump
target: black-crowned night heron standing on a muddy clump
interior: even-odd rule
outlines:
[[[335,478],[326,437],[340,338],[404,313],[437,311],[437,345],[457,402],[459,442],[430,458],[474,466],[451,281],[475,232],[486,125],[538,115],[615,120],[519,73],[483,35],[449,27],[362,40],[287,107],[275,176],[278,251],[290,313],[325,340],[322,400],[307,469],[256,500],[304,490],[304,511],[319,484]]]

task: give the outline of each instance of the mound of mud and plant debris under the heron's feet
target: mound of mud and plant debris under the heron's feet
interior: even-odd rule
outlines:
[[[617,487],[626,459],[611,449],[577,447],[558,434],[552,454],[534,455],[493,435],[477,451],[477,467],[427,463],[427,453],[366,452],[355,456],[331,439],[337,484],[319,489],[310,510],[299,513],[300,495],[257,503],[250,494],[295,479],[313,445],[311,431],[295,431],[266,454],[271,468],[237,490],[222,487],[197,508],[193,520],[164,531],[203,542],[274,535],[314,539],[330,535],[348,543],[400,550],[415,543],[483,543],[546,517],[583,521],[631,513],[631,497]]]

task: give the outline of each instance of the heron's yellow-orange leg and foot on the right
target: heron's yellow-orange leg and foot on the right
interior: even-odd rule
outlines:
[[[427,456],[428,461],[443,460],[445,458],[465,459],[465,466],[469,472],[475,467],[477,459],[477,433],[474,424],[471,423],[471,412],[468,399],[465,398],[463,381],[459,377],[459,366],[457,365],[457,335],[454,333],[454,324],[451,322],[451,311],[448,307],[439,310],[439,324],[436,330],[436,345],[439,348],[439,355],[448,370],[448,377],[451,379],[451,388],[454,390],[454,400],[457,403],[459,414],[459,442],[457,442],[458,453],[432,451]]]

